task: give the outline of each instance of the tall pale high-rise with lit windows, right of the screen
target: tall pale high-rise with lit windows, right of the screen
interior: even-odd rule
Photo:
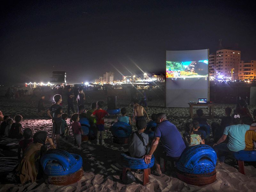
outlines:
[[[216,51],[216,77],[238,79],[238,64],[240,60],[240,51],[230,49]]]

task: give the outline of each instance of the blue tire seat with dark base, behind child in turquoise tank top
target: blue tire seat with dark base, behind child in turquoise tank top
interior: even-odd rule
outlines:
[[[112,133],[112,141],[117,144],[125,144],[129,142],[132,134],[132,127],[125,122],[116,122],[110,127]]]

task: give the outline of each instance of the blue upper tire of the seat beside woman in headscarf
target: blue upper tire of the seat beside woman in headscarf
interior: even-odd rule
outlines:
[[[83,164],[81,156],[74,156],[62,149],[50,149],[41,157],[40,163],[43,170],[45,170],[47,163],[53,161],[57,161],[62,166],[64,172],[79,170]]]

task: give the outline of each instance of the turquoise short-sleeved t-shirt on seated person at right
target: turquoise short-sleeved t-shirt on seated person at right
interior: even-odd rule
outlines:
[[[250,129],[250,125],[238,124],[227,126],[223,132],[228,135],[227,147],[231,151],[241,151],[245,148],[245,132]]]

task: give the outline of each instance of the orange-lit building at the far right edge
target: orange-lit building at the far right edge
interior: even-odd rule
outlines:
[[[240,61],[238,66],[238,78],[241,80],[253,79],[253,77],[255,76],[256,76],[256,60]]]

